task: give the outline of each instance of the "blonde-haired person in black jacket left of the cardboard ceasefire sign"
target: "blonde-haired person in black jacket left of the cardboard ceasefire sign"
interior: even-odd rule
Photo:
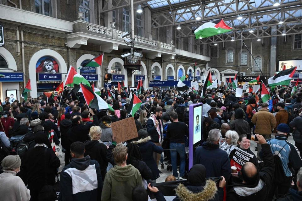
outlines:
[[[104,181],[108,160],[106,158],[108,146],[103,144],[100,139],[102,136],[102,129],[99,126],[92,126],[89,130],[90,141],[85,142],[85,156],[89,155],[90,159],[98,161],[101,168],[102,179]],[[111,157],[112,158],[112,157]],[[115,165],[114,160],[109,162]]]

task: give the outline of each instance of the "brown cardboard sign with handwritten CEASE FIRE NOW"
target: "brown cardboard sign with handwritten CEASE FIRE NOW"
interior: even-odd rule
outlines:
[[[134,117],[111,123],[111,129],[113,139],[116,143],[125,142],[138,137]]]

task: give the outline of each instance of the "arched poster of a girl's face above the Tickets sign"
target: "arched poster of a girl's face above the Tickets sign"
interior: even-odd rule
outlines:
[[[59,65],[52,57],[41,57],[36,64],[36,73],[59,73]]]

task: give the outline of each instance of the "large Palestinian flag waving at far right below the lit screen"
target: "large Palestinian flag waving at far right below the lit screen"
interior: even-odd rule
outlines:
[[[277,86],[277,85],[288,86],[296,69],[297,69],[297,66],[295,68],[289,68],[287,70],[280,71],[277,75],[275,75],[267,80],[268,85],[270,87]]]

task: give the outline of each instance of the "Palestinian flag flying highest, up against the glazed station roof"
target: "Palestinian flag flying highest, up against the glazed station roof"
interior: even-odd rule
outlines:
[[[197,40],[213,35],[223,34],[229,31],[232,31],[232,28],[227,26],[223,19],[219,19],[204,23],[194,31],[194,34]]]

